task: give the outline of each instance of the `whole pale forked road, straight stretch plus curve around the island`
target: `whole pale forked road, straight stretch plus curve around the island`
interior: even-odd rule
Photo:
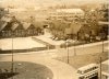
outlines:
[[[104,48],[108,47],[108,42],[104,43]],[[107,49],[105,49],[106,52]],[[102,43],[87,44],[75,47],[76,55],[93,54],[102,52]],[[69,48],[69,55],[74,56],[74,47]],[[76,69],[70,65],[53,59],[55,57],[66,56],[68,52],[65,48],[51,49],[32,53],[14,53],[14,61],[31,61],[47,66],[53,72],[53,79],[77,79]],[[10,54],[0,55],[0,61],[11,61],[12,56]]]

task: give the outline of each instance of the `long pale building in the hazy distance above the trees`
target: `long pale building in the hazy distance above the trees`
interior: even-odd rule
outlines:
[[[49,13],[50,20],[76,20],[77,18],[84,16],[84,11],[82,9],[57,9]]]

